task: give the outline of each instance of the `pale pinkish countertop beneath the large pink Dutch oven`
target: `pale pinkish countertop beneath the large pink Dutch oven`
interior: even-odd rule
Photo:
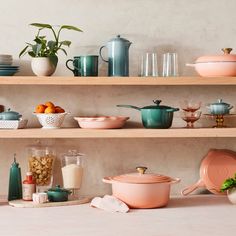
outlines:
[[[4,236],[226,236],[236,232],[236,205],[226,196],[173,197],[165,208],[109,213],[89,206],[0,206]]]

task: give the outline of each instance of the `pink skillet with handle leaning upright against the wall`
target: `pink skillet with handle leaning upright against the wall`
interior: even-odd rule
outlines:
[[[235,173],[236,153],[230,150],[212,149],[201,162],[199,181],[182,190],[182,195],[188,195],[204,187],[214,194],[222,194],[220,192],[222,183]]]

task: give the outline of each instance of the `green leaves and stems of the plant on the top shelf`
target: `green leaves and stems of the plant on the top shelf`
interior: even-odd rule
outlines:
[[[71,41],[61,40],[60,35],[63,30],[73,30],[82,32],[81,29],[72,25],[62,25],[56,30],[55,26],[42,23],[32,23],[31,26],[37,27],[38,32],[33,43],[26,43],[27,46],[20,52],[19,57],[28,53],[31,57],[49,57],[56,66],[58,62],[58,52],[62,51],[67,55],[65,47],[70,47]],[[47,40],[46,36],[41,35],[41,31],[48,29],[52,32],[53,40]]]

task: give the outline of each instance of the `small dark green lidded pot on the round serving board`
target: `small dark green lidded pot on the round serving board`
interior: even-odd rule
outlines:
[[[56,185],[55,188],[48,189],[47,191],[49,202],[66,202],[70,194],[70,190],[60,188],[60,185]]]

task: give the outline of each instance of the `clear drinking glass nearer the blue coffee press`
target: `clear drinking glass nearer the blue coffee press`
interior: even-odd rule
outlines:
[[[158,76],[156,53],[146,53],[142,56],[141,76]]]

